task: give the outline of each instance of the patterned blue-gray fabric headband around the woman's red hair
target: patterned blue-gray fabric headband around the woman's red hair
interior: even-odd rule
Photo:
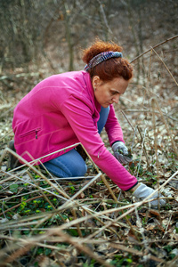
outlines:
[[[112,51],[107,51],[107,52],[102,52],[97,54],[87,65],[85,65],[85,70],[88,71],[89,69],[92,69],[96,65],[100,64],[103,61],[107,61],[110,58],[122,58],[123,55],[120,52],[112,52]]]

